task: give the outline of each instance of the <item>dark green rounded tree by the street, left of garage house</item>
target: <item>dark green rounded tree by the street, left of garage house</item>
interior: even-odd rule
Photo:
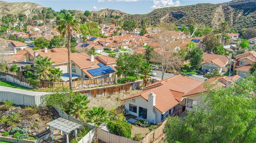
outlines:
[[[193,69],[195,69],[195,73],[196,69],[199,69],[202,66],[201,62],[204,61],[202,59],[203,55],[204,52],[200,47],[196,47],[188,51],[186,59],[190,61],[190,65]]]

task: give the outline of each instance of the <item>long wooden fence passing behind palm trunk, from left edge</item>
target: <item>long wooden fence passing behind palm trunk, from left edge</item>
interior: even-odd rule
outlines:
[[[17,75],[15,75],[17,74]],[[21,86],[25,86],[28,88],[32,88],[30,85],[30,81],[28,78],[24,78],[22,76],[22,72],[0,72],[0,79],[6,80]],[[92,87],[92,86],[102,86],[105,84],[114,84],[117,81],[116,77],[110,77],[110,78],[98,78],[98,79],[91,79],[91,80],[78,80],[78,81],[72,81],[72,86],[74,88],[80,88],[80,87]],[[69,82],[48,82],[48,81],[41,81],[38,85],[39,88],[48,88],[48,87],[68,87],[69,88]]]

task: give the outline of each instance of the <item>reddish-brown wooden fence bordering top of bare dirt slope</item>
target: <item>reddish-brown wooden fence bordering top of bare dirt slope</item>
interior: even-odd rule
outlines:
[[[152,84],[156,82],[156,80],[150,80],[148,84]],[[78,90],[76,92],[79,92],[81,94],[84,94],[87,96],[88,99],[90,98],[96,98],[100,96],[108,96],[111,94],[117,94],[117,93],[123,93],[129,90],[139,89],[142,85],[144,85],[143,80],[137,80],[135,82],[128,82],[125,84],[118,84],[115,86],[105,86],[100,88],[93,88],[93,89],[84,89],[84,90]]]

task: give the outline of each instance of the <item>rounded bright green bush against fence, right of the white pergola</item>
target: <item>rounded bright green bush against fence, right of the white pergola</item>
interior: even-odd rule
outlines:
[[[125,121],[110,121],[107,124],[107,128],[110,131],[110,133],[113,133],[115,135],[131,138],[131,127],[128,123]]]

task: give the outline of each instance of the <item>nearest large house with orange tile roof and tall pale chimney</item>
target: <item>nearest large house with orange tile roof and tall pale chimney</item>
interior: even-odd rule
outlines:
[[[177,75],[145,86],[142,92],[122,101],[129,114],[159,123],[168,115],[179,115],[183,107],[192,110],[205,91],[204,82]]]

